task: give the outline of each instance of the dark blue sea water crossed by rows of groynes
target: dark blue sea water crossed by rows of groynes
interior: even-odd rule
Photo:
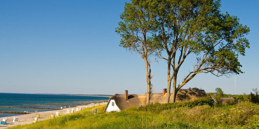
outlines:
[[[47,94],[17,94],[17,93],[0,93],[0,106],[17,106],[17,107],[51,107],[56,106],[30,106],[23,104],[46,104],[46,103],[65,103],[73,101],[88,101],[88,100],[108,100],[109,97],[99,96],[76,96],[76,95],[47,95]],[[48,104],[55,105],[55,104]],[[62,104],[57,104],[62,105]],[[64,108],[64,107],[63,107]],[[31,108],[0,108],[0,111],[28,111],[34,112]],[[38,109],[41,111],[51,111],[51,109]],[[0,117],[17,116],[23,114],[3,114]]]

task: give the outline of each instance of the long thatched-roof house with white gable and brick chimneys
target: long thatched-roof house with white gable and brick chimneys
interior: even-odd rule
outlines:
[[[109,98],[109,101],[105,107],[105,112],[121,111],[131,107],[140,107],[145,105],[147,101],[147,93],[143,95],[128,94],[125,90],[125,94],[115,94]],[[176,102],[182,101],[190,96],[204,97],[206,92],[204,90],[189,90],[180,89],[176,95]],[[163,93],[151,93],[150,103],[166,103],[167,89],[163,89]],[[172,94],[169,102],[173,102]]]

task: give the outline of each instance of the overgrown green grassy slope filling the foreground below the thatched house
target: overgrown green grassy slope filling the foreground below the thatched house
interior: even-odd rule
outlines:
[[[73,114],[11,128],[259,128],[259,104],[211,105],[211,98],[168,104],[149,104],[120,112],[88,115],[89,108]]]

